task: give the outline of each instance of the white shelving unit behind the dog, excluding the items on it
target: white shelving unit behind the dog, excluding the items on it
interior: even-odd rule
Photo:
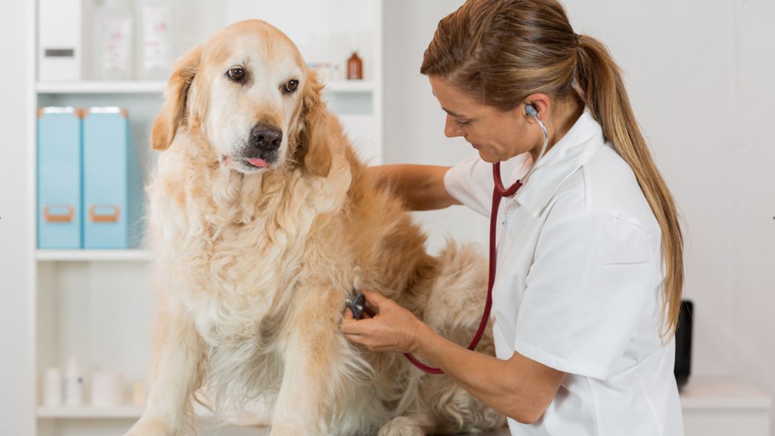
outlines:
[[[83,0],[84,14],[97,0]],[[282,29],[298,44],[307,61],[327,61],[324,56],[349,56],[358,50],[363,59],[364,80],[329,81],[324,96],[329,108],[340,116],[351,140],[370,163],[381,161],[382,147],[382,0],[302,0],[295,5],[304,14],[287,14],[286,5],[271,0],[191,0],[192,19],[187,38],[203,42],[214,29],[240,19],[260,18]],[[339,14],[347,9],[347,14]],[[28,9],[27,26],[37,35],[38,2]],[[327,14],[327,15],[326,15]],[[341,17],[339,16],[341,15]],[[305,22],[308,19],[308,22]],[[88,22],[88,21],[84,21]],[[86,24],[84,24],[86,25]],[[91,22],[88,22],[91,26]],[[201,30],[206,29],[206,30]],[[307,32],[305,34],[304,32]],[[191,37],[191,32],[197,34]],[[328,39],[325,35],[334,35]],[[355,42],[350,47],[316,47],[315,41]],[[364,44],[366,44],[364,46]],[[84,48],[88,50],[90,47]],[[324,50],[325,49],[325,50]],[[336,49],[336,50],[335,50]],[[321,54],[315,54],[318,50]],[[183,50],[184,51],[184,50]],[[182,51],[180,54],[183,54]],[[341,56],[339,56],[341,54]],[[88,57],[88,52],[87,52]],[[311,58],[314,57],[314,58]],[[345,64],[346,57],[339,59]],[[28,57],[29,71],[37,71],[36,56]],[[156,161],[150,151],[150,125],[163,102],[166,81],[29,81],[26,88],[33,107],[122,106],[129,112],[131,137],[140,157],[143,183]],[[34,112],[30,114],[34,116]],[[26,174],[36,192],[36,129],[30,123]],[[29,199],[30,216],[36,216],[36,199]],[[91,436],[122,434],[142,414],[131,405],[98,408],[89,405],[89,374],[120,372],[127,390],[132,382],[146,378],[151,359],[151,329],[156,313],[156,294],[150,287],[152,254],[130,250],[38,250],[33,244],[32,283],[36,343],[34,386],[37,398],[29,414],[36,421],[38,436]],[[40,386],[43,371],[66,368],[67,359],[78,358],[86,376],[83,407],[43,407]],[[128,394],[128,392],[127,392]],[[127,399],[129,395],[126,395]],[[128,400],[127,400],[128,401]],[[245,434],[205,425],[200,434]],[[240,431],[241,430],[241,431]],[[33,435],[34,436],[34,435]]]

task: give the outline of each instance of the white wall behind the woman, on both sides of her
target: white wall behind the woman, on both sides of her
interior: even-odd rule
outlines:
[[[436,22],[462,0],[385,2],[385,161],[454,164],[474,154],[443,137],[444,113],[418,73]],[[684,220],[695,303],[694,375],[735,375],[775,397],[775,3],[566,0],[577,33],[625,71],[639,123]],[[401,26],[398,23],[401,23]],[[420,213],[444,233],[487,240],[460,206]],[[775,434],[775,426],[773,426]]]

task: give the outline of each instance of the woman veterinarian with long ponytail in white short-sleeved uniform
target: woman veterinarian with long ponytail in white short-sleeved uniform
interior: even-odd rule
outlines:
[[[498,358],[373,292],[377,317],[346,310],[343,333],[438,366],[507,415],[512,434],[683,434],[671,340],[683,285],[676,206],[608,50],[574,33],[553,0],[469,0],[439,22],[420,71],[447,113],[446,136],[479,155],[377,175],[411,209],[463,203],[486,216],[491,164],[502,162],[505,187],[524,182],[498,213]],[[531,112],[548,133],[540,159]]]

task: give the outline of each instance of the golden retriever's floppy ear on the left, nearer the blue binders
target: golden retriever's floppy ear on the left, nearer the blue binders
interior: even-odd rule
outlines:
[[[175,62],[170,81],[167,82],[166,99],[161,106],[161,112],[153,122],[150,133],[150,144],[153,150],[167,150],[175,139],[177,128],[186,122],[186,99],[188,88],[199,68],[199,58],[202,57],[202,47],[196,47],[184,57]]]

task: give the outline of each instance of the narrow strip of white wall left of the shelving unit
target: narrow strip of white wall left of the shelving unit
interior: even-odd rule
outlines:
[[[3,2],[0,18],[0,433],[33,434],[35,417],[33,296],[27,289],[33,253],[32,157],[26,135],[30,107],[27,2]]]

